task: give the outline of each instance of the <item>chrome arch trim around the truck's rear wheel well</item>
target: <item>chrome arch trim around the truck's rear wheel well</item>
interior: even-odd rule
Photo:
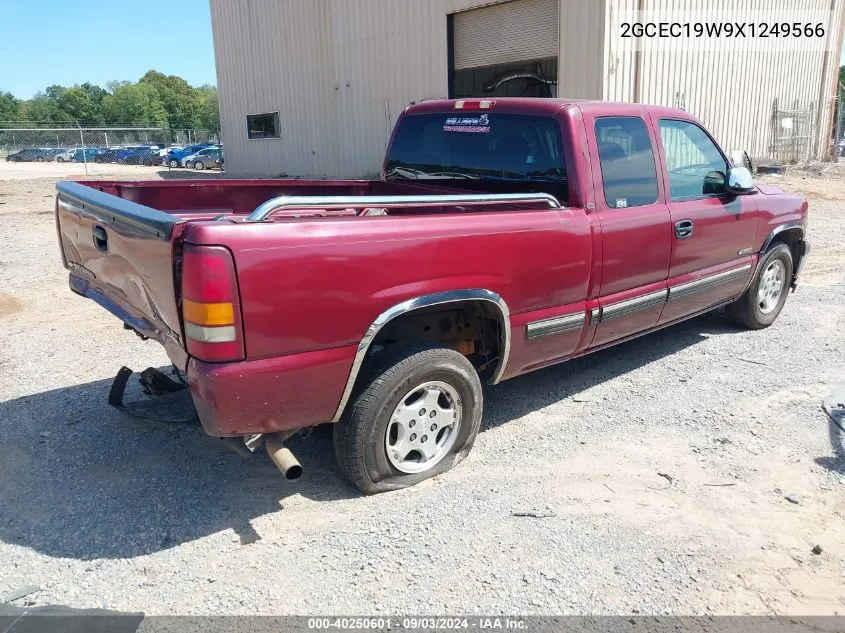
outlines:
[[[337,405],[337,409],[335,410],[334,417],[331,421],[337,422],[340,420],[340,416],[343,414],[343,410],[346,408],[349,398],[352,396],[352,389],[355,387],[355,381],[358,378],[358,373],[361,371],[361,366],[364,364],[364,359],[367,357],[370,345],[372,345],[379,331],[385,325],[396,317],[413,310],[442,305],[444,303],[456,303],[458,301],[486,301],[494,304],[498,309],[502,321],[502,331],[500,333],[502,337],[502,341],[500,343],[501,354],[499,364],[496,367],[493,379],[490,382],[495,385],[501,381],[502,375],[505,373],[505,367],[507,367],[508,364],[508,356],[510,356],[511,349],[511,323],[508,304],[505,303],[505,300],[502,299],[499,294],[483,288],[435,292],[429,295],[408,299],[407,301],[403,301],[392,308],[388,308],[382,312],[375,321],[373,321],[373,324],[370,325],[369,328],[367,328],[367,331],[364,333],[364,337],[361,339],[361,342],[358,343],[358,349],[355,352],[355,359],[352,361],[352,369],[349,371],[349,377],[346,379],[346,386],[343,389],[343,395],[340,397],[340,402]]]

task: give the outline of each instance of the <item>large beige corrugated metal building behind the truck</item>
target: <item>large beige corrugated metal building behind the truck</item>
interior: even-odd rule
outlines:
[[[683,107],[726,149],[781,162],[829,146],[845,0],[210,0],[226,167],[374,175],[421,99],[545,96]],[[824,50],[686,50],[625,22],[778,9]],[[819,17],[821,16],[821,17]],[[783,50],[781,50],[783,49]]]

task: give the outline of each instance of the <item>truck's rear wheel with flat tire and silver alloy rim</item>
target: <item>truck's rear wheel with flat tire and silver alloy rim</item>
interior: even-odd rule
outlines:
[[[405,488],[466,457],[483,407],[466,357],[432,343],[397,343],[370,363],[334,428],[338,465],[352,483],[367,494]]]

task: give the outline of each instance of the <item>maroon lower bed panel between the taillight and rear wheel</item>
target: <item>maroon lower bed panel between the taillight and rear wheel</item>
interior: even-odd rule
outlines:
[[[357,346],[238,363],[188,361],[188,385],[206,433],[274,433],[332,419]]]

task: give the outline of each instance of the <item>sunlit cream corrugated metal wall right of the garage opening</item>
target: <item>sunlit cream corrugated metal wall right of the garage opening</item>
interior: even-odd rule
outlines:
[[[835,15],[842,12],[842,0],[834,0]],[[645,19],[657,11],[671,10],[678,22],[689,21],[700,11],[696,0],[645,0]],[[752,10],[788,10],[789,21],[801,22],[808,11],[828,10],[831,0],[711,0],[707,4],[713,19],[722,11],[748,7]],[[604,97],[613,101],[634,100],[637,92],[637,55],[629,42],[617,37],[619,24],[637,18],[637,0],[610,0],[607,20],[607,63]],[[838,33],[839,21],[828,28]],[[834,59],[835,58],[835,59]],[[640,60],[640,101],[654,105],[683,106],[708,126],[726,150],[741,148],[755,158],[769,153],[772,104],[800,108],[814,104],[819,109],[817,156],[826,148],[824,138],[830,121],[829,97],[838,53],[831,53],[825,66],[822,52],[718,51],[691,53],[677,48],[656,50],[648,40]],[[825,78],[824,88],[822,79]],[[820,103],[820,95],[824,102]]]

